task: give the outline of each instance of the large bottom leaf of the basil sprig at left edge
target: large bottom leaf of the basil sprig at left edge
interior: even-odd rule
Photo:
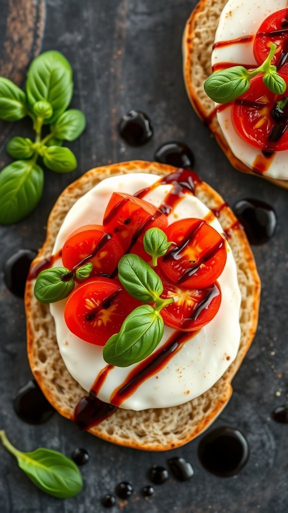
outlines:
[[[0,224],[12,224],[30,214],[43,192],[44,173],[32,161],[19,160],[0,173]]]

